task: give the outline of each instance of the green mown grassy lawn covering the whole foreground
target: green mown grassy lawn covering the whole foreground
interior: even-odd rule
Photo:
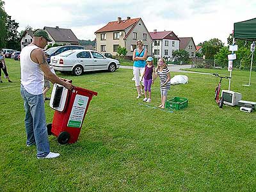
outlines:
[[[159,79],[148,107],[136,100],[131,69],[79,77],[57,72],[98,96],[77,143],[59,145],[49,136],[51,151],[61,156],[38,160],[36,148],[26,147],[19,61],[6,63],[14,83],[0,84],[0,191],[255,191],[256,113],[218,108],[216,77],[172,73],[186,74],[189,83],[172,86],[168,99],[187,97],[189,105],[168,113],[154,108]],[[256,101],[256,73],[252,86],[244,83],[248,72],[234,71],[232,90]],[[51,122],[49,101],[45,110]]]

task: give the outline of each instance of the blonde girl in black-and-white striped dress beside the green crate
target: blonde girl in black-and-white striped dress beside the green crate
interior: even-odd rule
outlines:
[[[160,58],[157,63],[157,70],[155,74],[155,79],[159,76],[160,78],[160,91],[161,91],[161,105],[159,108],[164,108],[164,103],[167,99],[168,90],[171,88],[171,75],[168,66],[166,65],[166,61],[164,58]]]

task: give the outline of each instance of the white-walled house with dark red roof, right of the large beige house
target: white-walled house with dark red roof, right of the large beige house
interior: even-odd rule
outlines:
[[[179,50],[179,38],[173,31],[150,32],[153,39],[152,52],[155,58],[172,58],[172,52]]]

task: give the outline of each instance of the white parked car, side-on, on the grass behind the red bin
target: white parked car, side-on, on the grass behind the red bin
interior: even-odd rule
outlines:
[[[52,56],[50,65],[56,71],[72,72],[75,76],[95,70],[114,72],[120,67],[118,60],[106,58],[97,51],[86,49],[65,51],[58,56]]]

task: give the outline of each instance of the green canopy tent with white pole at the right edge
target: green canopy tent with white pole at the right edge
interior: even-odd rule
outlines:
[[[241,22],[235,22],[234,23],[234,38],[252,41],[253,42],[253,47],[255,47],[256,18],[249,19],[249,20],[244,20],[244,21],[241,21]],[[252,60],[253,60],[253,53],[254,53],[254,49],[252,51]],[[250,82],[251,82],[252,60],[251,60],[249,84],[244,84],[246,86],[250,86]]]

